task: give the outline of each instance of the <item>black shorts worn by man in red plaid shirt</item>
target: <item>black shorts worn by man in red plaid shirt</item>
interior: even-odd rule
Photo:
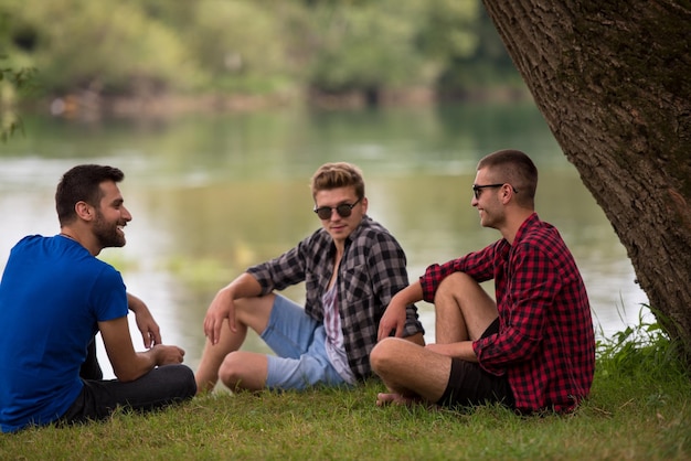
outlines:
[[[496,319],[482,333],[482,337],[499,333],[499,319]],[[445,407],[474,406],[499,401],[514,408],[515,400],[507,375],[496,376],[486,372],[479,364],[460,358],[451,358],[451,373],[446,390],[437,405]]]

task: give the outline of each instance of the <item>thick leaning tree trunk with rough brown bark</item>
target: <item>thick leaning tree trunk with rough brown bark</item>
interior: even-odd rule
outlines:
[[[483,3],[651,309],[691,352],[691,3]]]

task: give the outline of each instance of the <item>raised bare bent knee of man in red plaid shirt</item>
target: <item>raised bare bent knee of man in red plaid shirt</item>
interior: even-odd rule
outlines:
[[[475,341],[497,319],[497,304],[470,276],[455,272],[434,298],[437,344]]]

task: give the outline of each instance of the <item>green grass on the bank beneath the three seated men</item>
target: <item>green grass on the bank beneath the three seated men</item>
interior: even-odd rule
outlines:
[[[691,380],[673,345],[641,323],[598,344],[591,398],[572,415],[521,417],[374,405],[355,390],[210,394],[150,415],[0,435],[1,460],[685,460]]]

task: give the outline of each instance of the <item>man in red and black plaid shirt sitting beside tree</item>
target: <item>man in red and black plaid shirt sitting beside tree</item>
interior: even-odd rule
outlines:
[[[432,265],[400,291],[370,355],[389,387],[378,405],[498,401],[521,412],[573,410],[589,393],[595,337],[587,293],[561,235],[534,212],[538,170],[523,152],[480,160],[471,204],[503,238]],[[480,282],[495,280],[495,300]],[[433,302],[436,344],[400,337],[405,305]]]

